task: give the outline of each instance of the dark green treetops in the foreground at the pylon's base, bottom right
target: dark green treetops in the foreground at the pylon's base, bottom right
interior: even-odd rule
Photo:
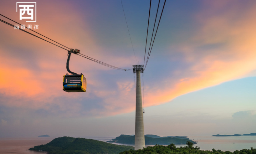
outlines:
[[[155,146],[148,146],[143,150],[129,150],[123,151],[119,154],[256,154],[256,148],[243,149],[243,150],[236,150],[234,152],[230,151],[221,151],[212,149],[209,150],[200,150],[200,147],[193,147],[192,142],[187,142],[187,146],[184,147],[176,147],[175,144],[170,144],[168,146],[163,145],[155,145]]]

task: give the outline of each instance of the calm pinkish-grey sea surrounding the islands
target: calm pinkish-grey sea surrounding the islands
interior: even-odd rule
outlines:
[[[82,137],[99,141],[110,141],[116,136],[89,136]],[[216,150],[235,151],[242,149],[256,148],[256,136],[228,136],[228,137],[213,137],[213,136],[188,136],[189,139],[196,141],[201,150]],[[42,154],[45,152],[36,152],[28,150],[31,147],[51,142],[54,137],[35,137],[35,138],[0,138],[0,154]],[[117,143],[114,143],[117,144]],[[118,144],[129,145],[129,144]],[[131,145],[134,146],[134,145]],[[146,145],[154,146],[154,145]],[[176,147],[186,145],[176,145]]]

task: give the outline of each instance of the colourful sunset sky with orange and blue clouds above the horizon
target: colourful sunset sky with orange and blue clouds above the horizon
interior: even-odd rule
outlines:
[[[0,14],[110,65],[144,62],[149,0],[122,0],[134,51],[119,0],[27,0],[37,5],[34,23],[19,19],[16,2],[24,1],[0,0]],[[254,0],[166,1],[143,73],[145,134],[255,133],[255,14]],[[67,93],[66,50],[2,22],[0,36],[0,138],[135,134],[132,70],[72,54],[70,70],[85,75],[87,91]]]

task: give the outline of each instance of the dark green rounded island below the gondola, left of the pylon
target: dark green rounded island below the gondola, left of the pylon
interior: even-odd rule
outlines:
[[[46,151],[48,154],[118,154],[130,149],[134,150],[134,147],[65,136],[53,139],[44,145],[34,146],[29,150]]]

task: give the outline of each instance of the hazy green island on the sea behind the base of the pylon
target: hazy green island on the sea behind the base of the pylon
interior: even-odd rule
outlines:
[[[186,144],[186,142],[192,142],[196,144],[196,142],[189,140],[187,137],[160,137],[157,135],[145,135],[145,144],[146,145],[169,145],[169,144]],[[109,143],[121,143],[121,144],[135,144],[135,136],[134,135],[120,135],[111,141],[107,141]]]

